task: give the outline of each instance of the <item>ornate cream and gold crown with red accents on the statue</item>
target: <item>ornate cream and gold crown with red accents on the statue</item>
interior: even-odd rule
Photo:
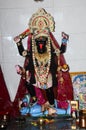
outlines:
[[[48,35],[49,32],[55,31],[54,18],[45,9],[41,8],[32,15],[29,28],[33,34]]]

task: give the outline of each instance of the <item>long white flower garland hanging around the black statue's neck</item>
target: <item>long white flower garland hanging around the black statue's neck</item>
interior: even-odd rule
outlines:
[[[50,45],[50,38],[48,37],[48,44],[47,44],[47,53],[48,53],[48,57],[47,57],[47,67],[46,67],[46,72],[44,70],[42,70],[42,75],[40,74],[39,70],[39,66],[37,66],[36,64],[36,56],[35,56],[35,41],[34,38],[32,37],[32,56],[33,56],[33,63],[34,63],[34,68],[35,68],[35,73],[37,76],[37,80],[40,82],[41,85],[44,85],[47,83],[47,78],[48,78],[48,74],[49,74],[49,69],[50,69],[50,64],[51,64],[51,45]]]

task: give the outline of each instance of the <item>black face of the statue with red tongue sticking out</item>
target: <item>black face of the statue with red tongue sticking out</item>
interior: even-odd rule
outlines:
[[[35,39],[38,53],[43,54],[43,53],[46,52],[46,50],[47,50],[47,48],[46,48],[47,41],[48,41],[48,38],[44,37],[44,36]]]

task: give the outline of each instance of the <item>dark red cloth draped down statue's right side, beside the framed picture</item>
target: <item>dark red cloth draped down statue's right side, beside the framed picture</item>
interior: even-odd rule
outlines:
[[[59,48],[59,44],[56,41],[52,33],[50,33],[51,39],[55,46]],[[66,64],[63,54],[60,55],[60,65]],[[58,73],[58,86],[57,86],[57,100],[73,100],[73,86],[69,72],[62,72],[63,83],[60,82],[60,74]]]

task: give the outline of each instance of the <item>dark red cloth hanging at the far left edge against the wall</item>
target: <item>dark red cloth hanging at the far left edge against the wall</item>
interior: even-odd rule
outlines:
[[[0,66],[0,115],[10,113],[11,107],[12,103]]]

